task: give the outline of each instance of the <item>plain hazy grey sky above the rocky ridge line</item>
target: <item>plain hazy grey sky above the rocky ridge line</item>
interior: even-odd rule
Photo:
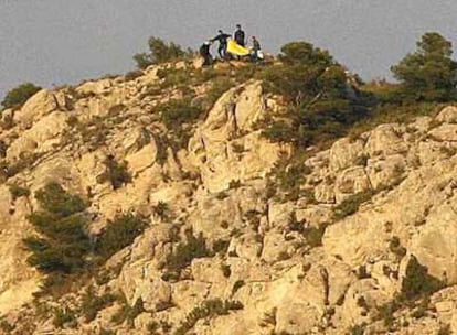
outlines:
[[[264,50],[305,40],[363,78],[427,31],[457,44],[456,0],[0,0],[0,98],[23,82],[45,87],[125,73],[150,35],[196,48],[244,25]]]

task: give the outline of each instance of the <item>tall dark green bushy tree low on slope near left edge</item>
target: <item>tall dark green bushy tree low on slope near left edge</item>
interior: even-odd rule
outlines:
[[[44,273],[75,273],[86,268],[91,238],[86,233],[86,205],[59,184],[47,184],[35,195],[41,210],[29,216],[39,236],[24,239],[32,251],[28,261]]]

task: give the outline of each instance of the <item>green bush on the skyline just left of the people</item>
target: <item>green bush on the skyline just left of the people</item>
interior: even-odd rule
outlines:
[[[192,51],[183,51],[180,45],[167,43],[158,37],[150,37],[148,41],[150,53],[139,53],[134,56],[139,68],[146,68],[152,64],[160,64],[180,60],[192,55]]]

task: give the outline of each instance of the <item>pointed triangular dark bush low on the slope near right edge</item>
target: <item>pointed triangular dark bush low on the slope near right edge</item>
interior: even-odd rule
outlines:
[[[411,257],[406,267],[406,277],[402,282],[401,298],[406,301],[433,294],[445,287],[440,280],[428,274],[428,269],[422,266],[417,258]]]

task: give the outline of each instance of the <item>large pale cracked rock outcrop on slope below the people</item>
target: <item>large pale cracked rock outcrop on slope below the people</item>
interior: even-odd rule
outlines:
[[[225,93],[189,142],[190,159],[212,193],[231,182],[265,177],[279,159],[281,148],[263,139],[253,125],[265,117],[261,83]],[[246,133],[247,132],[247,133]]]

